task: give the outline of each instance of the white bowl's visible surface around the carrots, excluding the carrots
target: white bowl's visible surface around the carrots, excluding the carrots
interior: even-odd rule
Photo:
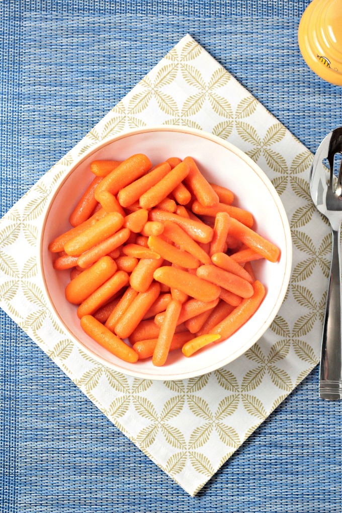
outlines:
[[[55,255],[48,244],[70,229],[69,215],[79,196],[93,179],[89,165],[93,160],[124,160],[133,153],[146,153],[152,164],[170,156],[193,156],[207,179],[231,189],[235,205],[251,211],[255,229],[280,247],[281,257],[272,264],[254,263],[255,275],[267,293],[253,317],[227,341],[212,344],[206,350],[185,358],[180,351],[170,353],[164,367],[154,367],[151,359],[126,363],[94,342],[81,329],[76,307],[67,303],[64,290],[70,271],[55,271]],[[200,376],[232,362],[249,349],[269,327],[289,284],[292,246],[286,212],[279,196],[263,171],[244,152],[232,144],[200,130],[177,126],[158,126],[125,132],[84,153],[74,163],[50,199],[40,241],[40,272],[43,275],[51,309],[70,338],[85,352],[109,367],[138,378],[179,380]]]

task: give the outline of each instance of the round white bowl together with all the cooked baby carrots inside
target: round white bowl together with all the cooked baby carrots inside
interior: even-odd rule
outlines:
[[[176,380],[223,367],[263,335],[292,246],[278,194],[245,153],[158,126],[73,163],[47,206],[40,257],[56,321],[83,351]]]

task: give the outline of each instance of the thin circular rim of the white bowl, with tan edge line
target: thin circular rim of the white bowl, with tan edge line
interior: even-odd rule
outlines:
[[[45,280],[45,273],[44,273],[44,267],[43,267],[43,239],[44,239],[44,233],[45,233],[45,226],[46,222],[49,216],[49,212],[51,210],[52,204],[54,202],[54,199],[56,195],[58,194],[59,190],[63,187],[65,182],[68,180],[69,176],[73,173],[73,171],[81,165],[88,157],[94,153],[95,151],[98,151],[99,149],[104,148],[105,146],[112,144],[115,141],[118,141],[120,139],[125,139],[126,137],[130,137],[132,135],[140,134],[140,133],[147,133],[147,132],[156,132],[156,131],[163,131],[163,132],[180,132],[180,133],[187,133],[191,135],[195,135],[198,137],[205,138],[209,141],[212,141],[216,144],[219,144],[220,146],[225,147],[226,149],[230,150],[231,152],[235,153],[240,159],[245,161],[245,163],[252,169],[253,172],[257,174],[259,179],[264,183],[264,185],[268,188],[272,199],[279,211],[281,223],[283,224],[284,228],[284,234],[285,234],[285,273],[283,277],[283,282],[281,284],[278,297],[274,303],[274,306],[272,310],[269,312],[267,319],[263,322],[263,324],[259,327],[259,329],[253,334],[252,337],[248,339],[247,342],[245,342],[239,349],[234,351],[232,354],[230,354],[229,357],[224,358],[223,360],[220,360],[219,362],[213,363],[211,365],[208,365],[206,367],[202,367],[198,370],[192,370],[189,372],[167,372],[167,367],[163,367],[163,369],[166,372],[160,372],[160,374],[155,375],[150,373],[149,371],[142,371],[141,369],[137,368],[137,370],[131,370],[120,367],[120,365],[117,365],[113,362],[110,362],[106,358],[103,358],[99,356],[97,353],[86,347],[80,340],[77,339],[77,337],[74,336],[74,334],[70,331],[69,327],[64,323],[62,318],[59,316],[59,313],[57,312],[54,303],[51,299],[50,292],[48,290],[46,280]],[[153,126],[147,126],[147,127],[140,127],[136,129],[126,130],[124,132],[121,132],[119,134],[116,134],[112,137],[109,137],[108,139],[105,139],[104,141],[101,141],[97,143],[96,145],[89,148],[89,150],[82,153],[81,157],[79,157],[75,162],[73,162],[72,166],[68,170],[68,172],[64,175],[63,180],[58,184],[57,188],[53,192],[48,205],[45,208],[44,213],[44,219],[42,223],[42,229],[38,237],[38,269],[39,273],[41,275],[44,290],[47,296],[47,300],[49,302],[49,307],[54,312],[55,318],[58,321],[59,324],[61,324],[62,328],[68,336],[71,338],[71,340],[79,347],[81,348],[88,356],[96,360],[97,362],[106,365],[113,370],[117,372],[121,372],[123,374],[127,374],[128,376],[133,376],[135,378],[139,379],[150,379],[155,381],[172,381],[172,380],[183,380],[183,379],[189,379],[194,378],[198,376],[202,376],[203,374],[206,374],[208,372],[212,372],[218,368],[224,367],[225,365],[228,365],[232,361],[236,360],[238,357],[242,356],[248,349],[250,349],[259,339],[267,328],[270,326],[274,318],[276,317],[276,314],[283,303],[283,300],[285,298],[285,294],[288,289],[288,285],[290,282],[290,275],[291,275],[291,266],[292,266],[292,240],[291,240],[291,231],[290,231],[290,225],[287,218],[287,214],[284,208],[283,203],[281,202],[279,195],[277,191],[275,190],[272,182],[266,175],[266,173],[254,162],[252,159],[246,155],[242,150],[234,146],[233,144],[225,141],[224,139],[220,139],[220,137],[211,134],[210,132],[206,132],[204,130],[198,130],[196,128],[189,128],[186,126],[178,126],[178,125],[153,125]]]

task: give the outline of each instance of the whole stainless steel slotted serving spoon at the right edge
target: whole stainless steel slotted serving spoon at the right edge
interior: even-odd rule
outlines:
[[[342,222],[342,164],[334,180],[334,157],[342,153],[342,127],[330,132],[316,151],[310,170],[310,193],[319,212],[332,229],[332,255],[327,305],[323,324],[319,370],[319,397],[342,399],[342,312],[339,236]],[[330,175],[323,160],[328,159]]]

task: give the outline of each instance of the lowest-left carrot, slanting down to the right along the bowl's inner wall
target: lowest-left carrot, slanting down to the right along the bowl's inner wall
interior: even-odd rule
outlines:
[[[85,315],[85,317],[81,319],[81,327],[89,337],[115,354],[117,358],[129,363],[135,363],[138,360],[138,355],[132,347],[129,347],[125,342],[116,337],[114,333],[109,331],[109,329],[92,317],[92,315]]]

